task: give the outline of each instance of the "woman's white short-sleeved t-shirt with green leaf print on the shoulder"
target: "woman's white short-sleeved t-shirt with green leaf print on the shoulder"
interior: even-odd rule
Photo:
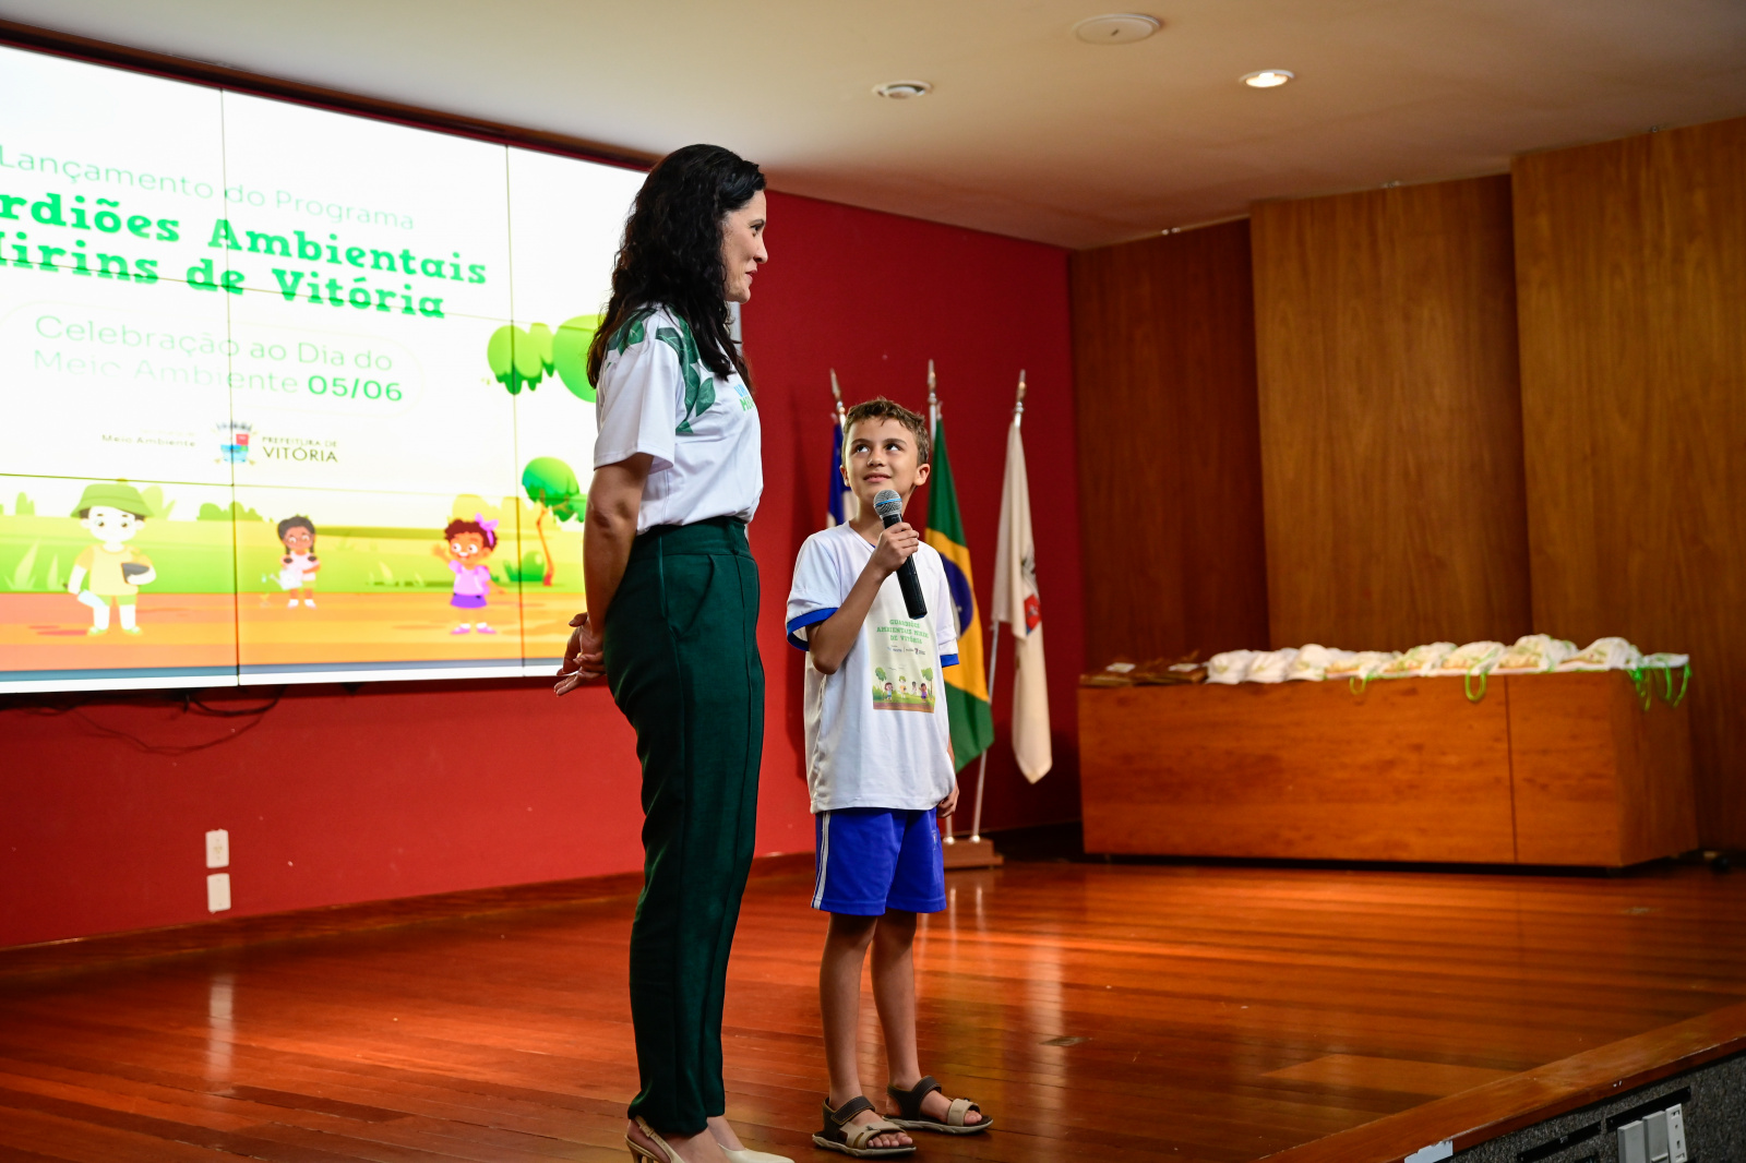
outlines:
[[[684,320],[656,307],[625,323],[601,361],[594,466],[653,458],[637,533],[711,517],[751,520],[763,492],[758,407],[739,372],[716,375]]]

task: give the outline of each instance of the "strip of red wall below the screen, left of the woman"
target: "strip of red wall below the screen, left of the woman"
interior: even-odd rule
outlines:
[[[0,945],[204,920],[208,828],[230,831],[236,915],[639,866],[606,690],[293,686],[250,721],[122,697],[0,714]]]

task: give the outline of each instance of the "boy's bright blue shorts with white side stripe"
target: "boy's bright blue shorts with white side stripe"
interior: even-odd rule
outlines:
[[[946,906],[946,866],[932,810],[838,809],[814,821],[814,908],[880,917],[889,908],[938,913]]]

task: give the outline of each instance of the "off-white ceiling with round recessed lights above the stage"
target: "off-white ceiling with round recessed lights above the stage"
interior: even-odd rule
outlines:
[[[1746,114],[1746,0],[0,0],[0,16],[1098,246]],[[1074,21],[1165,28],[1088,45]],[[1290,68],[1282,89],[1241,73]],[[922,79],[913,101],[871,94]],[[0,114],[3,126],[3,114]]]

